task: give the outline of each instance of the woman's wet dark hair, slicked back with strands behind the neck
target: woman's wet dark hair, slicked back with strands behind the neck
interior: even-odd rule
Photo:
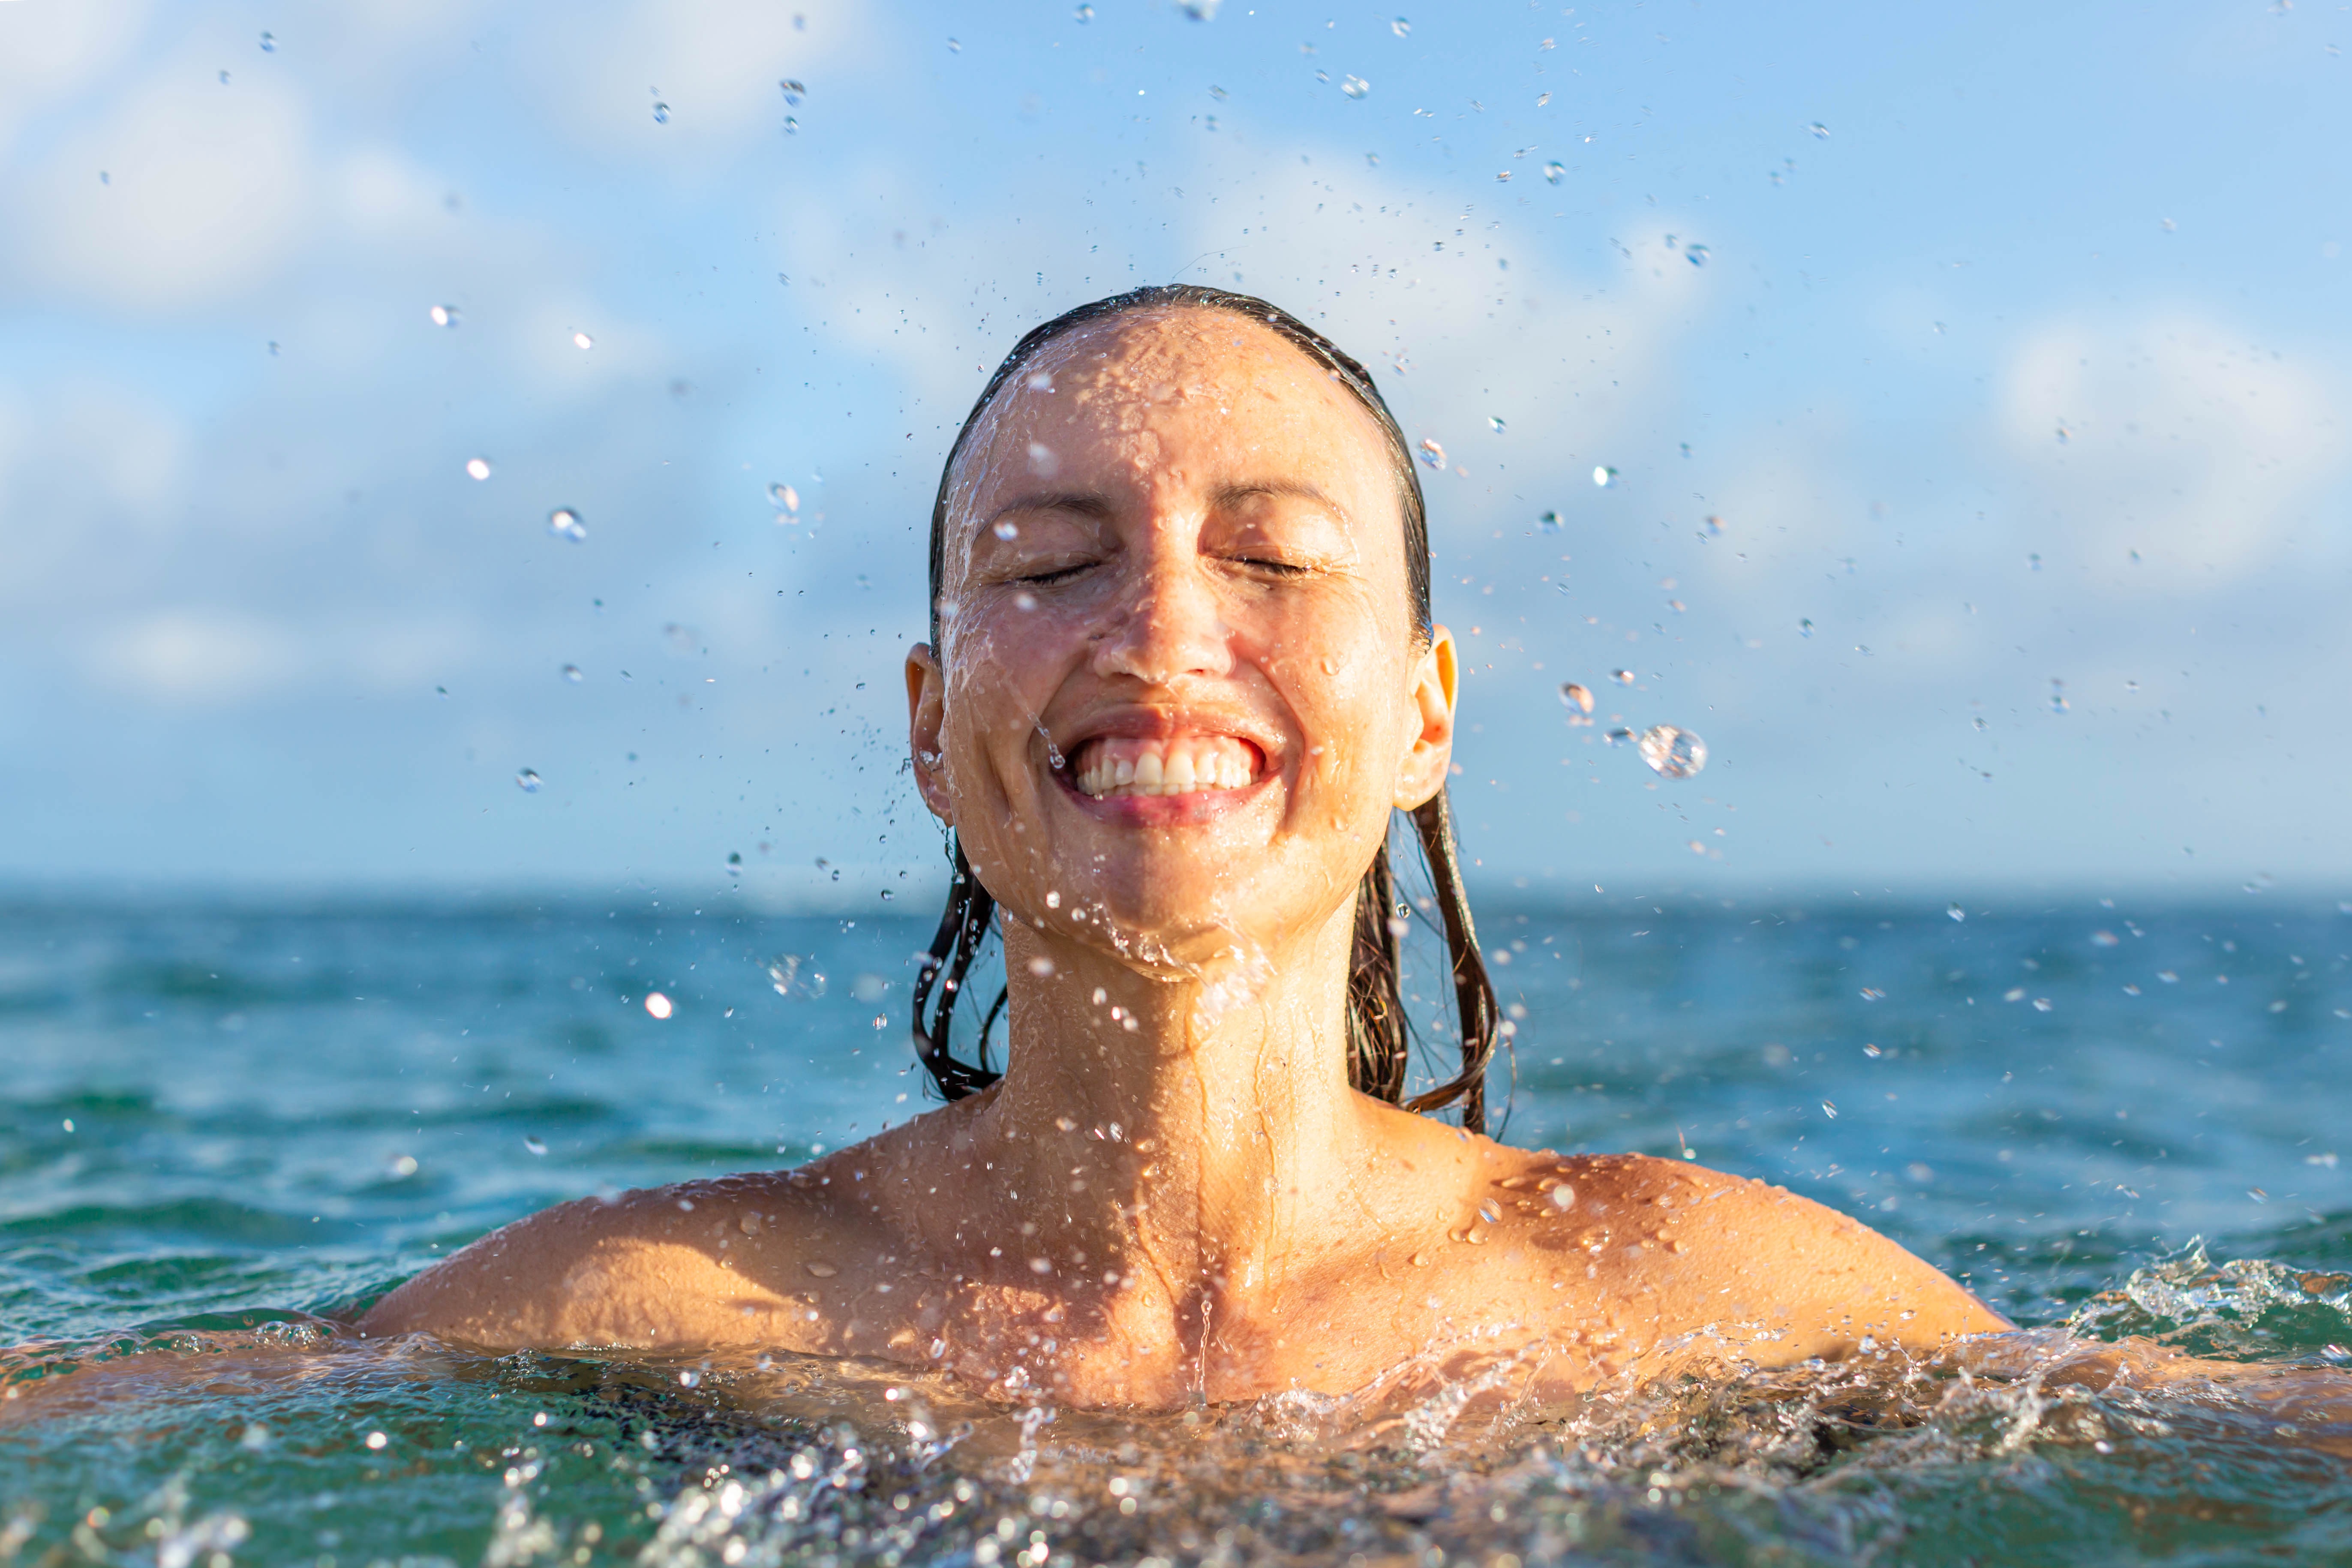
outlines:
[[[1004,390],[1004,383],[1018,376],[1040,350],[1077,327],[1136,310],[1178,308],[1230,310],[1268,327],[1308,360],[1324,367],[1324,374],[1348,388],[1357,404],[1381,425],[1397,480],[1397,508],[1404,515],[1404,571],[1414,595],[1414,625],[1423,637],[1430,635],[1428,505],[1421,496],[1421,477],[1414,473],[1414,454],[1404,442],[1404,430],[1397,428],[1395,414],[1388,411],[1364,367],[1289,310],[1270,306],[1263,299],[1197,284],[1160,284],[1098,299],[1068,315],[1056,315],[1044,327],[1035,327],[1014,343],[1014,350],[1004,355],[1004,364],[981,388],[978,402],[964,416],[964,428],[955,433],[955,444],[948,449],[948,461],[938,475],[938,501],[931,503],[934,646],[943,646],[938,602],[948,567],[948,496],[955,484],[955,465],[962,461],[971,433],[981,425],[981,414],[988,411],[988,404]],[[1404,1013],[1404,992],[1399,990],[1399,938],[1406,931],[1411,910],[1397,898],[1397,879],[1388,860],[1388,844],[1383,842],[1355,898],[1355,954],[1348,964],[1348,1081],[1376,1100],[1388,1100],[1414,1112],[1461,1105],[1463,1126],[1472,1133],[1484,1133],[1486,1065],[1494,1060],[1501,1023],[1494,1004],[1494,985],[1486,980],[1486,964],[1477,950],[1477,929],[1470,924],[1470,898],[1463,889],[1461,849],[1454,842],[1454,816],[1446,806],[1444,785],[1411,816],[1421,853],[1430,870],[1432,900],[1423,900],[1423,907],[1435,903],[1446,933],[1454,1006],[1461,1018],[1461,1072],[1435,1088],[1404,1098],[1411,1023]],[[948,1100],[960,1100],[1002,1077],[988,1065],[988,1032],[995,1027],[997,1013],[1004,1011],[1007,992],[997,992],[995,1004],[981,1020],[978,1060],[957,1060],[948,1048],[948,1025],[953,1023],[955,1001],[964,992],[971,964],[981,954],[981,943],[988,940],[997,900],[981,886],[953,832],[948,835],[948,853],[953,860],[948,912],[938,922],[938,936],[931,938],[931,950],[915,980],[915,1056],[922,1060],[924,1072],[931,1074],[938,1093]],[[929,1006],[934,987],[938,990],[936,1009]]]

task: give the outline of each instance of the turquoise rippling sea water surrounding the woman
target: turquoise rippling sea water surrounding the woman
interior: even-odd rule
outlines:
[[[2352,914],[1962,914],[1489,910],[1508,1135],[1689,1147],[2023,1324],[2352,1361]],[[927,936],[724,900],[0,907],[0,1563],[2352,1561],[2352,1432],[2187,1392],[1879,1361],[1494,1410],[1402,1368],[1136,1420],[334,1331],[543,1204],[915,1114]]]

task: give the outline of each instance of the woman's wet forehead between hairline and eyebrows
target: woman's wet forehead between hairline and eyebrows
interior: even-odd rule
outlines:
[[[990,404],[962,487],[1025,480],[1028,442],[1044,433],[1056,451],[1108,440],[1131,463],[1178,458],[1169,437],[1183,437],[1195,458],[1209,444],[1247,465],[1388,470],[1385,435],[1329,364],[1263,322],[1197,306],[1131,310],[1047,343]]]

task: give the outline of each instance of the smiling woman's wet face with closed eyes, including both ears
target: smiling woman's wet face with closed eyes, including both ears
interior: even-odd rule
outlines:
[[[983,414],[946,527],[915,776],[1023,922],[1152,969],[1265,954],[1444,783],[1454,644],[1414,628],[1388,447],[1258,322],[1058,339]]]

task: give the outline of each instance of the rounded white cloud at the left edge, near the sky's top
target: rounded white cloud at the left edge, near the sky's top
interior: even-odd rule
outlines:
[[[299,235],[306,122],[289,89],[223,87],[181,56],[0,186],[16,266],[47,289],[148,310],[249,292]]]

